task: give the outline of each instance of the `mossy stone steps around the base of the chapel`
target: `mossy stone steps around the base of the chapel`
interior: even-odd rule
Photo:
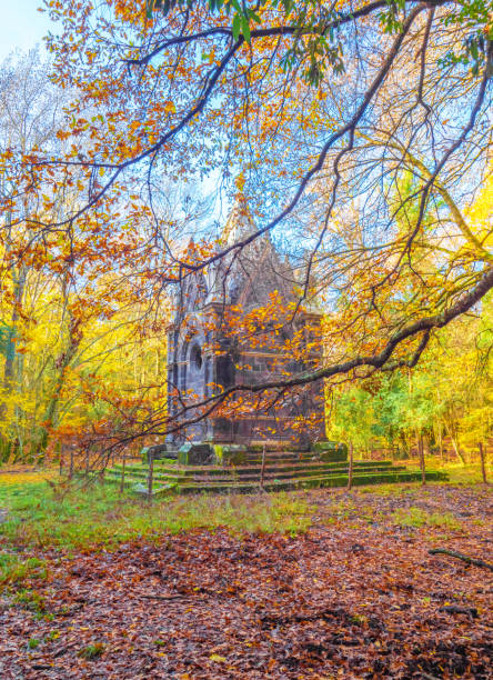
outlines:
[[[321,487],[345,487],[348,484],[346,461],[322,461],[311,452],[269,451],[262,474],[262,453],[251,451],[237,466],[183,466],[171,460],[158,460],[153,466],[153,496],[175,491],[179,493],[250,493],[263,488],[265,491],[290,489],[315,489]],[[107,482],[119,484],[122,464],[107,470]],[[137,493],[145,494],[149,466],[145,462],[127,463],[124,486]],[[261,484],[262,479],[262,484]],[[427,480],[446,480],[439,471],[426,472]],[[420,471],[406,470],[404,466],[383,461],[355,461],[353,484],[378,484],[421,480]]]

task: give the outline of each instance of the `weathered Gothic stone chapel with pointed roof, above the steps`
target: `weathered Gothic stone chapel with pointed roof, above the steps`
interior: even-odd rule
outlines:
[[[222,244],[243,242],[255,231],[245,201],[239,198],[227,221]],[[199,416],[193,403],[218,394],[221,388],[275,381],[319,364],[320,343],[298,361],[286,350],[294,336],[316,346],[313,329],[321,321],[316,311],[298,310],[294,320],[288,318],[282,328],[279,323],[270,328],[268,317],[259,333],[251,331],[252,323],[245,328],[240,323],[238,332],[231,331],[231,319],[249,314],[255,319],[255,310],[274,308],[276,301],[280,307],[294,307],[298,284],[292,267],[279,256],[269,236],[254,239],[208,271],[190,277],[175,299],[175,316],[168,333],[170,416],[178,419],[187,403],[191,406],[187,419],[193,419]],[[308,414],[310,427],[301,427]],[[323,383],[319,381],[262,408],[251,403],[234,417],[212,412],[182,428],[170,441],[308,444],[323,440],[324,429]]]

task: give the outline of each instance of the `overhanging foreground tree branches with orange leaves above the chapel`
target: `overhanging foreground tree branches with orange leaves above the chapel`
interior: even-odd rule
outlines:
[[[325,306],[319,366],[228,393],[412,368],[493,287],[491,222],[467,216],[491,172],[485,0],[46,8],[60,22],[56,81],[78,92],[68,152],[10,166],[26,187],[78,173],[81,194],[57,219],[32,210],[37,239],[91,216],[117,239],[130,216],[148,220],[132,257],[155,300],[270,233],[296,262],[299,309],[312,296]],[[203,232],[191,257],[183,226],[164,229],[154,211],[163,176],[219,178],[230,196],[239,177],[255,231],[228,246]],[[151,241],[153,267],[141,257]],[[161,414],[144,431],[168,424]]]

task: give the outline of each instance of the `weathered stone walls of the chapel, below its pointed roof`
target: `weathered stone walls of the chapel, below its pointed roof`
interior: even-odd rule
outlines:
[[[313,317],[312,317],[313,321]],[[195,323],[197,326],[197,323]],[[310,364],[316,367],[321,356],[313,353],[309,361],[301,363],[283,352],[285,338],[273,341],[270,348],[251,349],[248,342],[228,350],[230,339],[215,338],[217,347],[222,353],[211,351],[211,337],[195,333],[188,337],[187,329],[169,336],[169,371],[174,384],[180,390],[181,402],[192,406],[211,394],[210,383],[229,388],[235,384],[259,384],[286,378],[286,373],[296,376],[306,371]],[[266,333],[268,334],[268,333]],[[178,359],[178,360],[175,360]],[[172,386],[170,386],[172,388]],[[175,413],[179,404],[173,402],[170,389],[169,411]],[[244,392],[244,399],[251,399]],[[253,400],[252,400],[253,401]],[[256,401],[256,398],[255,398]],[[188,417],[198,414],[193,408]],[[296,422],[301,417],[313,416],[310,427],[299,429]],[[218,443],[250,443],[262,440],[281,441],[318,441],[325,437],[323,382],[318,381],[304,388],[301,394],[283,397],[272,408],[255,408],[250,412],[238,413],[234,418],[208,418],[203,422],[191,424],[171,439],[174,443],[182,441],[212,441]]]

